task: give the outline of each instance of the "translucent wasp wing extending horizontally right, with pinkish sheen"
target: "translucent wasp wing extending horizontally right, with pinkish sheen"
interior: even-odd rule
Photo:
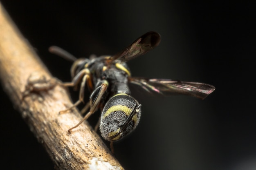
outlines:
[[[171,79],[131,77],[130,83],[137,84],[148,92],[155,92],[162,95],[190,95],[200,99],[204,99],[215,90],[215,87],[210,84],[173,81]]]

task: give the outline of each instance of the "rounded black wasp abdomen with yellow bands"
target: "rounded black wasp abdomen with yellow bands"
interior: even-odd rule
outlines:
[[[125,93],[111,97],[101,113],[102,137],[116,141],[132,132],[139,123],[140,106],[136,99]]]

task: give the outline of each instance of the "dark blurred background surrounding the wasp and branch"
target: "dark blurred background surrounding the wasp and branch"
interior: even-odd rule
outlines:
[[[115,156],[126,170],[256,169],[254,1],[1,2],[52,75],[63,82],[70,81],[71,63],[50,54],[49,46],[77,57],[112,55],[140,35],[157,31],[159,46],[128,62],[133,76],[216,86],[205,100],[132,91],[142,104],[141,121],[115,144]],[[53,170],[2,88],[0,99],[0,162],[12,162],[3,169]],[[93,118],[89,122],[94,126]]]

